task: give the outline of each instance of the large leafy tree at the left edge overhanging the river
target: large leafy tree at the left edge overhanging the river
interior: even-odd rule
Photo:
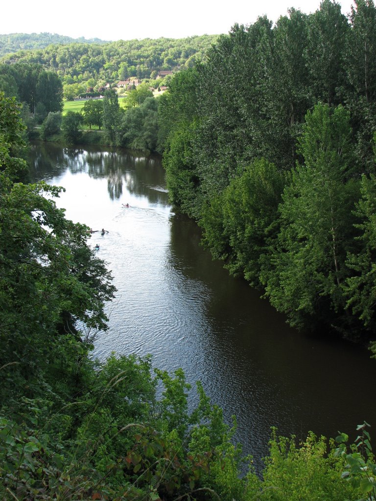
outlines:
[[[76,324],[106,329],[104,302],[115,290],[86,244],[86,226],[67,220],[51,199],[62,188],[14,182],[26,167],[13,156],[23,147],[23,130],[15,101],[0,95],[0,359],[6,366],[0,393],[8,396],[50,392],[48,381],[58,372],[61,391],[73,388],[87,351]]]

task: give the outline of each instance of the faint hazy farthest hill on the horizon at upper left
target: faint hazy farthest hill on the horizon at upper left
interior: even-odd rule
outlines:
[[[84,37],[71,38],[57,35],[56,33],[9,33],[0,35],[0,57],[18,51],[27,51],[32,49],[45,49],[51,44],[105,44],[106,42],[99,38],[86,40]]]

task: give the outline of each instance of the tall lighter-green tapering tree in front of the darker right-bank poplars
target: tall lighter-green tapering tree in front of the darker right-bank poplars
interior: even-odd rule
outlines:
[[[330,324],[342,311],[341,284],[351,248],[351,210],[356,184],[347,180],[352,165],[349,114],[342,106],[318,104],[306,115],[299,152],[303,165],[292,173],[280,204],[281,230],[262,277],[266,295],[295,327]]]

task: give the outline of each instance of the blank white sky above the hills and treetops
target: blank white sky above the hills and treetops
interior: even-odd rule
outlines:
[[[340,0],[342,13],[351,0]],[[1,7],[0,34],[57,33],[72,38],[131,40],[228,33],[266,14],[275,22],[295,7],[315,12],[320,0],[19,0]]]

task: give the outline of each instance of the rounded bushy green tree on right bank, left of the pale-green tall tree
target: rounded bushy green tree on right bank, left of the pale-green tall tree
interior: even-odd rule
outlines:
[[[267,242],[276,233],[274,223],[286,178],[266,160],[255,161],[210,201],[200,219],[203,241],[213,256],[225,260],[231,274],[244,274],[254,286],[259,285]]]

